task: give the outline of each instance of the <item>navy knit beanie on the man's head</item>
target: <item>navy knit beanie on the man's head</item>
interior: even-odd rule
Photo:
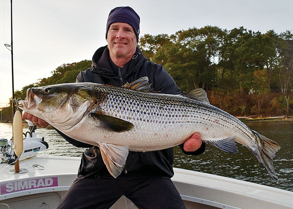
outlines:
[[[132,26],[138,42],[139,22],[140,18],[138,14],[129,6],[121,6],[112,9],[107,20],[106,39],[112,23],[127,23]]]

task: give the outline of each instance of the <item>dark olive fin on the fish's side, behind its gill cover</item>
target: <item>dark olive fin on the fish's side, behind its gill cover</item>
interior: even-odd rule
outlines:
[[[131,130],[134,127],[132,123],[113,116],[98,113],[91,113],[91,116],[95,119],[98,119],[101,123],[101,126],[108,131],[125,132]]]

